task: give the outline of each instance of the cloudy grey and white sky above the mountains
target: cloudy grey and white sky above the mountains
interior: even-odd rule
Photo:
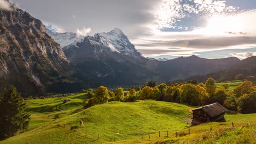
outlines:
[[[255,0],[13,2],[57,32],[94,35],[118,27],[145,57],[256,56]]]

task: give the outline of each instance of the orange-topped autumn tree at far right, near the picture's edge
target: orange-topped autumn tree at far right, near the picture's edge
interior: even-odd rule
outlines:
[[[237,86],[234,89],[234,93],[237,98],[241,97],[241,95],[243,94],[250,94],[253,91],[254,91],[254,87],[251,81],[244,81],[241,83],[241,85]]]

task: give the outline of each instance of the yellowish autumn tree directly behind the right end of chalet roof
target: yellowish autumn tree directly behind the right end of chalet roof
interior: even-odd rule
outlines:
[[[226,97],[228,95],[225,93],[225,89],[217,89],[214,95],[210,98],[209,102],[210,103],[219,103],[223,105],[224,100],[226,100]]]

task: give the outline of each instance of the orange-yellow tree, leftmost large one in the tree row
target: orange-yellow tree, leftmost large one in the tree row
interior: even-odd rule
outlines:
[[[104,104],[107,103],[109,99],[108,88],[100,86],[95,91],[95,103]]]

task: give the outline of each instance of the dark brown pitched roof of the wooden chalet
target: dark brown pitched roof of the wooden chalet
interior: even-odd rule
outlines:
[[[194,110],[199,110],[199,109],[202,109],[203,111],[205,111],[208,115],[210,115],[210,117],[216,117],[221,113],[228,111],[225,107],[223,107],[219,103],[213,103],[210,105],[201,106]]]

